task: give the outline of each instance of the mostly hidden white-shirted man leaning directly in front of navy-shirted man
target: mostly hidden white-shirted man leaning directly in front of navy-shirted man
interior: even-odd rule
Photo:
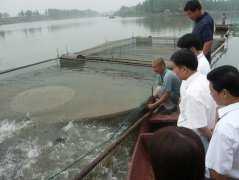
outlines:
[[[211,71],[210,64],[202,51],[202,41],[199,39],[198,36],[192,33],[185,34],[179,38],[177,46],[179,48],[190,49],[197,56],[198,72],[207,75]]]

